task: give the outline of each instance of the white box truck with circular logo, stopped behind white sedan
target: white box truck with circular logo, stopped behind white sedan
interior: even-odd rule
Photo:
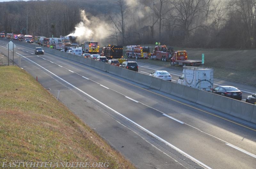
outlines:
[[[210,92],[213,88],[213,69],[204,67],[183,66],[183,74],[178,84]]]

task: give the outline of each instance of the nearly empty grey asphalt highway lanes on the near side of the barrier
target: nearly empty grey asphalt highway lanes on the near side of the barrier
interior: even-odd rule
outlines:
[[[5,41],[0,42],[1,48],[6,45]],[[20,45],[17,45],[17,48],[17,55],[22,57],[21,67],[33,77],[38,77],[45,88],[53,89],[54,85],[58,84],[62,86],[63,91],[68,91],[69,94],[62,93],[63,99],[60,101],[68,105],[75,114],[74,110],[81,107],[81,104],[78,104],[80,99],[90,100],[103,112],[100,116],[108,114],[127,128],[126,130],[134,131],[141,140],[146,140],[157,148],[155,151],[159,151],[157,153],[159,157],[163,159],[169,157],[169,160],[178,161],[180,165],[177,168],[196,168],[195,163],[202,168],[256,168],[256,129],[216,115],[212,109],[107,72],[52,54],[35,55],[33,48]],[[14,60],[16,61],[17,58]],[[149,68],[144,63],[139,63],[139,66],[141,73],[152,72],[155,68],[160,69],[152,66]],[[171,73],[175,82],[180,74]],[[81,109],[83,114],[87,113],[86,110],[90,111],[88,107]],[[86,114],[86,116],[91,115]],[[99,122],[98,118],[90,120],[88,123],[91,124]],[[107,121],[105,122],[109,125]],[[104,123],[104,119],[101,123]],[[116,133],[115,128],[109,130],[112,131],[110,133],[112,136],[124,134]],[[118,140],[118,137],[116,139]],[[109,140],[108,142],[113,143]],[[129,146],[129,142],[124,144]],[[151,166],[151,158],[147,153],[139,152],[143,148],[143,151],[148,151],[146,145],[142,144],[140,150],[128,151],[133,149],[131,144],[125,152],[114,143],[113,146],[124,153],[137,167],[156,168]],[[172,152],[171,149],[175,151]],[[147,164],[146,167],[139,165],[141,162],[134,158],[136,154],[142,154],[140,158],[145,165]],[[194,163],[189,164],[190,162],[183,160],[184,156]],[[169,165],[158,168],[172,167]]]

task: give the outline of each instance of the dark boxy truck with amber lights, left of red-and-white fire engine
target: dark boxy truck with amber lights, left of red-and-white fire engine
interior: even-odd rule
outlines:
[[[106,56],[108,59],[123,58],[123,46],[120,45],[108,45],[108,47],[102,48],[101,56]]]

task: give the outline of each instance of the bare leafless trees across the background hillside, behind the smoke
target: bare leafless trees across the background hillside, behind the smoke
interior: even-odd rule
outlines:
[[[104,43],[256,47],[256,0],[11,1],[0,3],[0,10],[5,33],[65,36],[75,31],[84,10],[89,20],[108,25]]]

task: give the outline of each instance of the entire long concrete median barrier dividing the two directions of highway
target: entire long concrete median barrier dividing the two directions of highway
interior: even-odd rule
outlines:
[[[13,41],[13,43],[20,43],[23,46],[35,48],[35,45],[29,44],[29,43],[24,43],[24,42],[15,41],[15,40]],[[119,77],[123,77],[125,79],[151,87],[153,89],[160,90],[162,92],[166,92],[174,96],[178,96],[182,99],[189,100],[191,102],[218,110],[225,114],[256,124],[256,106],[255,105],[245,103],[239,100],[231,99],[228,97],[224,97],[221,95],[213,94],[210,92],[194,89],[194,88],[180,85],[177,83],[161,80],[156,77],[151,77],[149,75],[145,75],[139,72],[127,70],[127,69],[110,65],[107,63],[84,58],[81,56],[72,55],[59,50],[46,48],[46,47],[42,47],[42,48],[46,53],[48,52],[53,55],[58,55],[58,56],[70,59],[72,61],[85,64],[87,66],[92,66],[99,70],[117,75]]]

